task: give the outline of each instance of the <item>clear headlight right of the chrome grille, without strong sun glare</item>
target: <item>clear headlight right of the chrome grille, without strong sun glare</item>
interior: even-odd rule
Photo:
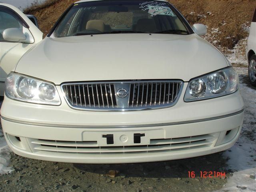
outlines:
[[[190,80],[184,101],[204,100],[231,94],[238,90],[238,75],[228,67]]]

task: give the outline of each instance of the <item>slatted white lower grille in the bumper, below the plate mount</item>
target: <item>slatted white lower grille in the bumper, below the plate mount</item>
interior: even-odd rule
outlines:
[[[158,152],[171,150],[187,150],[212,145],[211,134],[184,138],[154,139],[149,145],[137,146],[98,146],[97,141],[72,142],[56,140],[31,140],[30,144],[36,151],[64,153],[127,153],[127,152]]]

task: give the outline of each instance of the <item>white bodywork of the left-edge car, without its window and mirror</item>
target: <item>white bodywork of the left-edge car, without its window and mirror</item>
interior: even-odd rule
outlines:
[[[0,3],[0,5],[14,10],[28,24],[29,29],[23,27],[23,32],[30,33],[29,37],[32,38],[33,42],[0,42],[0,96],[4,96],[6,76],[14,71],[16,64],[24,53],[42,40],[43,33],[18,8],[4,3]]]

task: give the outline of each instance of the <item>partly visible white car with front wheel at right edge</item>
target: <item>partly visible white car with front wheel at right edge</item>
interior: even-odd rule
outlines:
[[[248,59],[249,80],[253,86],[256,86],[256,8],[252,17],[250,26],[250,34],[246,48],[246,56]]]

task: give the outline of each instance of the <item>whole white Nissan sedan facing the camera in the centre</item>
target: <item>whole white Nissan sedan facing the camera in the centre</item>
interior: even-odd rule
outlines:
[[[28,158],[73,163],[230,148],[244,103],[236,71],[198,36],[205,33],[164,0],[74,3],[7,77],[8,145]]]

